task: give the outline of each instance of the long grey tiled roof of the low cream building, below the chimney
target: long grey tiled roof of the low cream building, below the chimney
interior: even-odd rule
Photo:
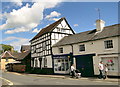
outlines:
[[[61,39],[59,42],[57,42],[55,45],[53,45],[53,47],[98,40],[98,39],[117,36],[117,35],[120,35],[120,24],[104,27],[104,29],[99,33],[96,33],[96,29],[94,29],[94,30],[66,36],[63,39]]]

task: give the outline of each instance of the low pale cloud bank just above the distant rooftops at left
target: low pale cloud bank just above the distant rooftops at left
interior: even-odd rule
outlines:
[[[20,37],[7,37],[2,41],[11,41],[9,44],[15,48],[15,50],[20,50],[21,45],[29,44],[29,39]]]

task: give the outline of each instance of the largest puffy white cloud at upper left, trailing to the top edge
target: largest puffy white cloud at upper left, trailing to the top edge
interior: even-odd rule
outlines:
[[[45,0],[47,2],[47,0]],[[53,0],[54,1],[54,0]],[[6,23],[0,25],[0,30],[7,30],[6,34],[13,34],[18,32],[27,32],[37,27],[43,19],[43,11],[48,8],[55,7],[60,1],[56,2],[41,2],[34,3],[31,7],[26,6],[15,10],[10,13],[5,13]],[[57,2],[58,1],[58,2]],[[57,15],[57,14],[56,14]],[[60,14],[58,14],[60,15]]]

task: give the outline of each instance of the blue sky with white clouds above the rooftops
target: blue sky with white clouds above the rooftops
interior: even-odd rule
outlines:
[[[44,27],[65,17],[76,33],[95,29],[95,21],[101,19],[105,26],[118,24],[118,2],[1,2],[0,43],[14,46],[29,41]]]

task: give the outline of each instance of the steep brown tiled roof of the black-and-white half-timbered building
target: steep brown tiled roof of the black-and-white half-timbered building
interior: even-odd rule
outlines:
[[[42,30],[40,30],[40,32],[39,32],[32,40],[34,40],[34,39],[42,36],[42,35],[45,34],[45,33],[51,32],[62,20],[65,20],[65,21],[66,21],[65,17],[59,19],[58,21],[56,21],[56,22],[50,24],[49,26],[43,28]],[[67,22],[67,21],[66,21],[66,22]],[[69,24],[68,24],[68,26],[69,26]],[[70,26],[69,26],[69,27],[70,27]],[[73,32],[74,32],[74,31],[73,31]],[[32,41],[32,40],[31,40],[31,41]]]

